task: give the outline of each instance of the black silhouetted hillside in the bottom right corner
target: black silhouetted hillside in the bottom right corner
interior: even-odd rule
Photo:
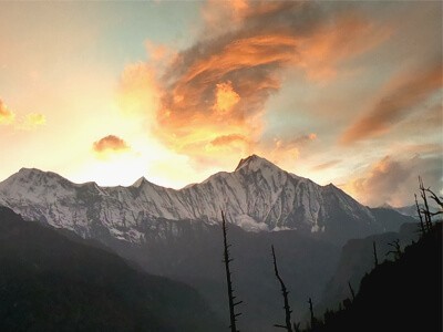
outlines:
[[[348,309],[309,331],[442,331],[442,224],[361,281]]]

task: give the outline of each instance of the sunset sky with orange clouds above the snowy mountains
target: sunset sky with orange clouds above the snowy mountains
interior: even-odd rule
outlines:
[[[443,194],[442,2],[0,2],[0,180],[181,188],[257,154],[362,204]]]

